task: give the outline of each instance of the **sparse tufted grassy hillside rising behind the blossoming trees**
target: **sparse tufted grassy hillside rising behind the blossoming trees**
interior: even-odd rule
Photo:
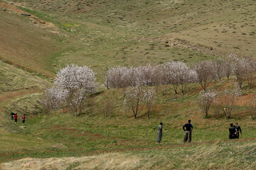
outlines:
[[[252,57],[256,54],[253,0],[16,0],[14,4],[54,23],[60,35],[68,35],[62,37],[65,50],[58,49],[58,42],[50,41],[57,48],[54,52],[44,49],[50,54],[44,55],[49,56],[44,60],[48,64],[41,67],[54,64],[60,69],[75,62],[92,67],[102,77],[105,69],[115,65],[158,64],[170,59],[193,63],[230,52]]]

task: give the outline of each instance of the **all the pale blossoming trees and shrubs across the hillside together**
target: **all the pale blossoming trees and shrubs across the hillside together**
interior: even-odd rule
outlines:
[[[199,83],[203,88],[203,92],[199,95],[199,104],[203,113],[208,116],[210,105],[213,101],[217,102],[216,96],[218,96],[218,103],[223,105],[223,113],[229,118],[234,106],[234,98],[238,96],[237,93],[229,90],[216,94],[208,91],[209,83],[223,79],[223,77],[229,79],[233,75],[240,89],[245,80],[252,88],[255,72],[256,62],[254,60],[239,58],[231,54],[225,59],[199,61],[192,67],[188,67],[184,62],[173,61],[154,66],[148,64],[140,67],[112,67],[107,71],[105,85],[107,89],[124,88],[124,106],[131,109],[134,118],[137,118],[142,105],[146,106],[148,117],[150,117],[155,91],[146,86],[157,87],[172,84],[175,94],[178,94],[178,89],[185,94],[187,84]],[[68,106],[73,113],[80,114],[87,106],[88,98],[96,89],[95,72],[92,69],[75,64],[68,65],[58,72],[53,86],[46,89],[43,106],[46,111]],[[109,115],[109,112],[107,109],[104,115]]]

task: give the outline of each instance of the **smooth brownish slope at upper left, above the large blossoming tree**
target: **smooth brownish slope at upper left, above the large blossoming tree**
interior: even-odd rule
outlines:
[[[0,10],[1,60],[53,77],[54,56],[61,49],[58,39],[58,33],[31,23],[27,16]]]

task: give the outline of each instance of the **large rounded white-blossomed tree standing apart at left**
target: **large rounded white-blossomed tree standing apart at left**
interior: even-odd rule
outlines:
[[[89,67],[71,64],[58,72],[54,86],[46,90],[50,105],[58,107],[64,103],[73,108],[75,113],[81,113],[86,99],[96,90],[95,72]]]

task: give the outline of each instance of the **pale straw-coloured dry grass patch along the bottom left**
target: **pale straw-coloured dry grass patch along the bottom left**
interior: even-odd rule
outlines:
[[[135,169],[142,158],[131,154],[102,154],[93,157],[49,159],[26,158],[2,164],[3,170],[21,169]]]

